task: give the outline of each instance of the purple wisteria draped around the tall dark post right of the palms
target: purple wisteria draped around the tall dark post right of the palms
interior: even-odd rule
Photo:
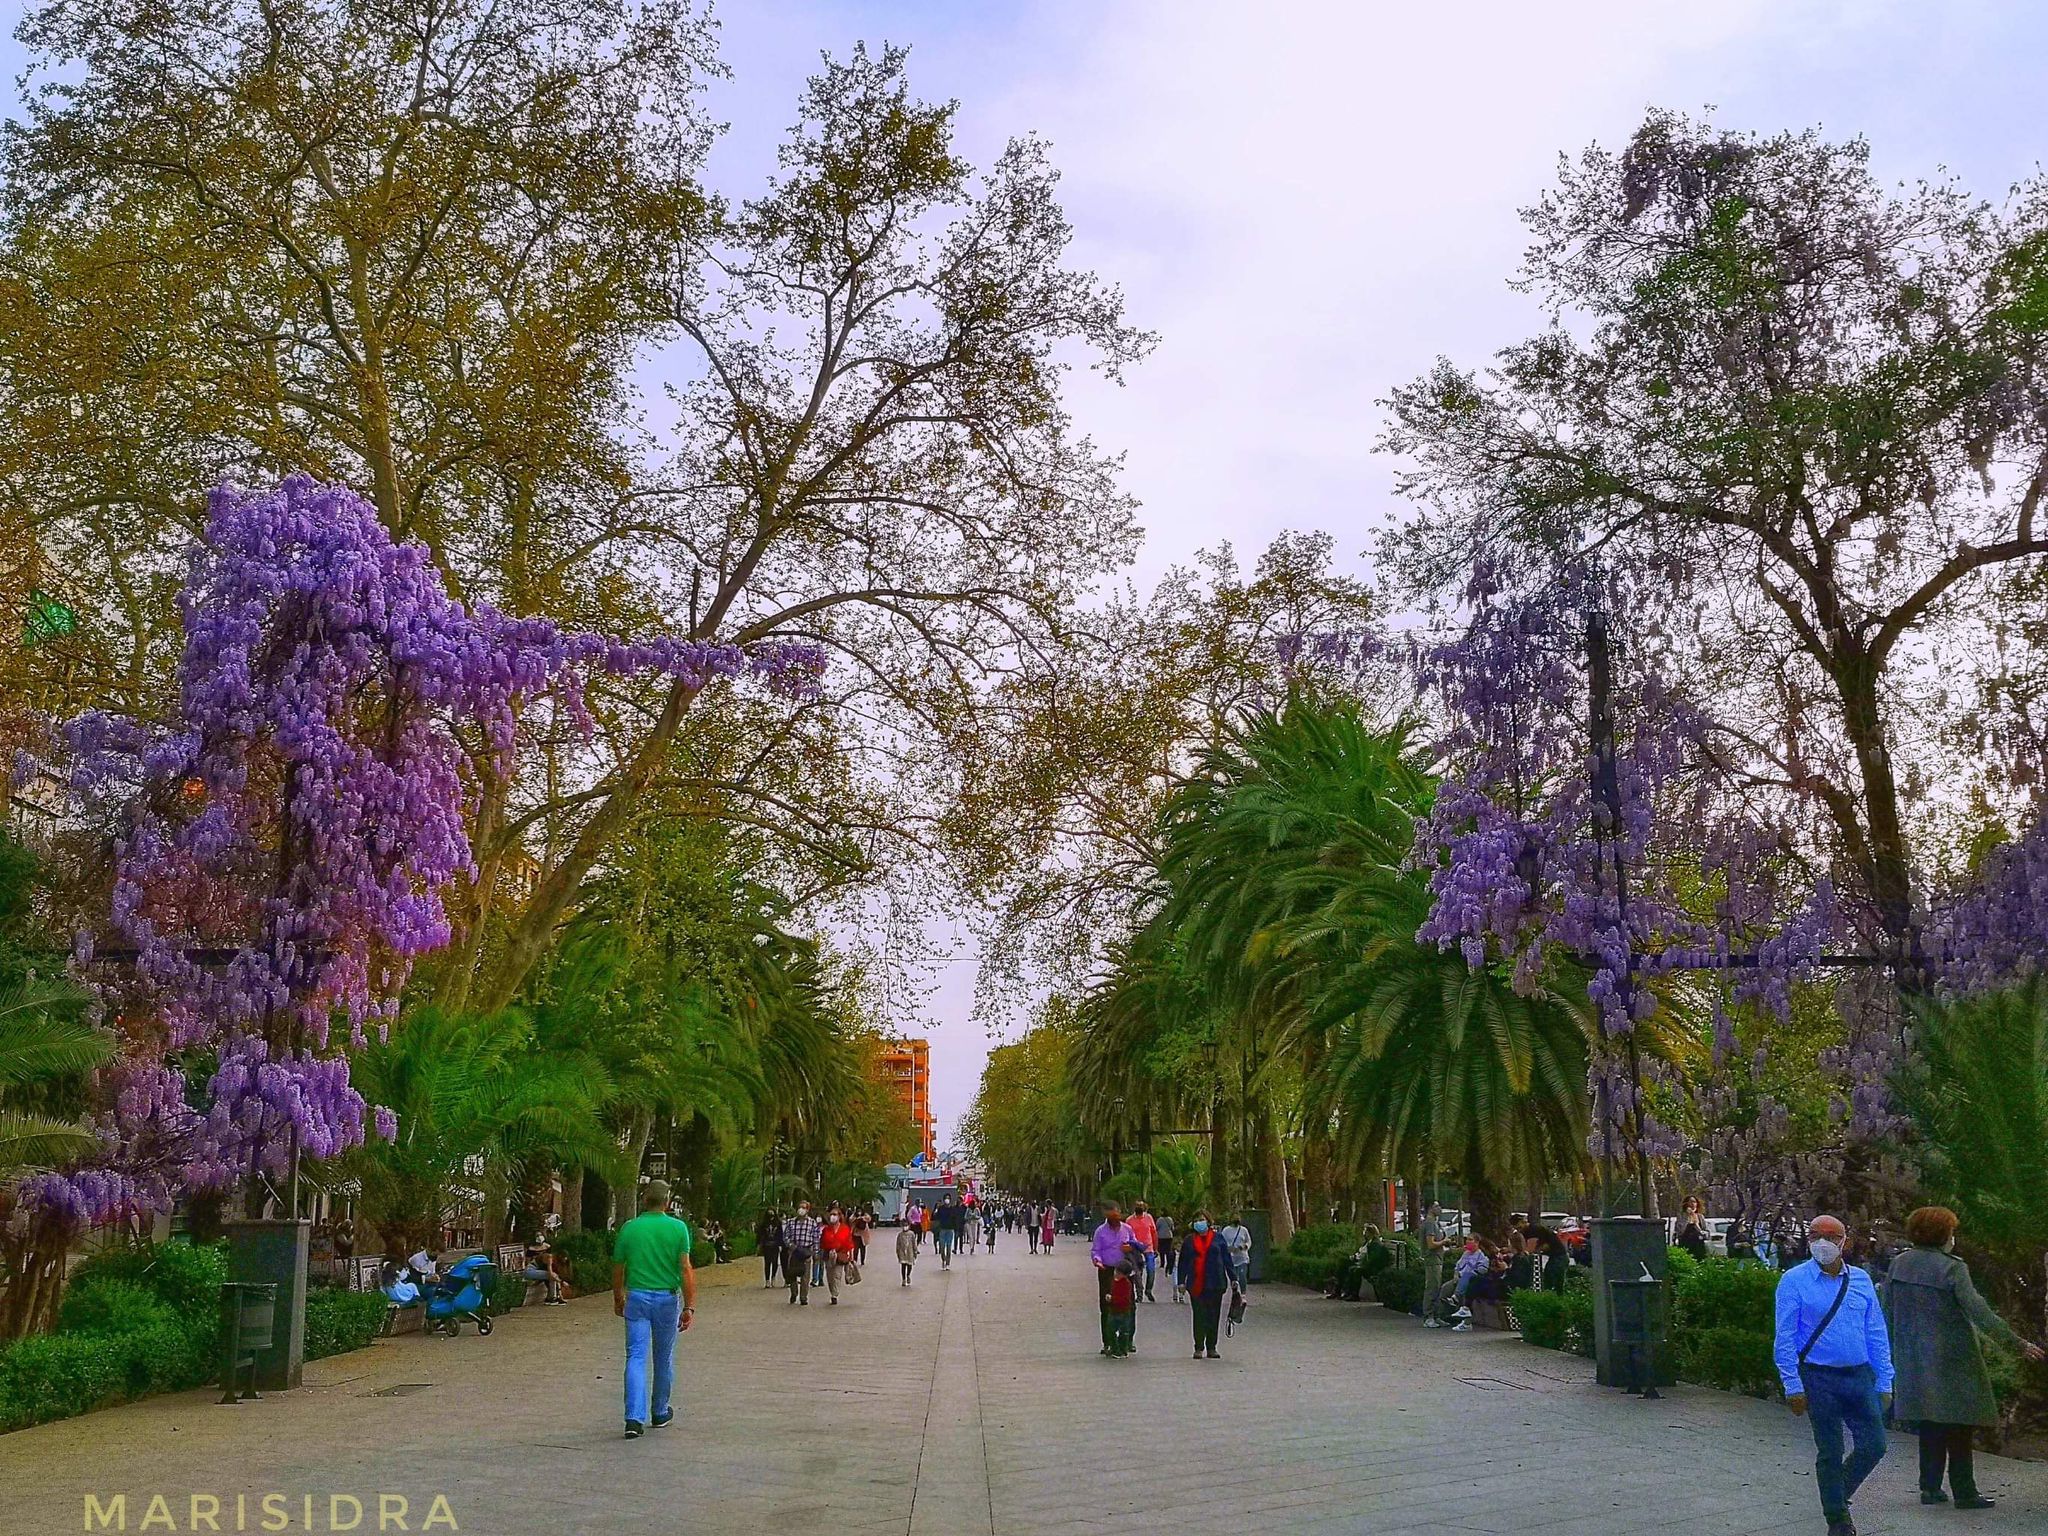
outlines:
[[[1786,885],[1786,829],[1729,793],[1712,721],[1640,655],[1622,655],[1614,680],[1618,825],[1595,795],[1587,612],[1614,614],[1632,639],[1628,584],[1577,578],[1524,596],[1481,565],[1464,600],[1464,629],[1413,659],[1444,721],[1434,748],[1446,764],[1417,827],[1436,897],[1417,938],[1456,946],[1473,967],[1507,961],[1524,987],[1554,956],[1577,961],[1610,1040],[1651,1018],[1649,983],[1679,971],[1718,971],[1737,997],[1784,1008],[1792,977],[1837,932],[1833,889]],[[1677,1153],[1683,1139],[1638,1092],[1661,1075],[1655,1059],[1628,1067],[1618,1051],[1597,1053],[1595,1141],[1612,1149],[1628,1122],[1651,1155]]]

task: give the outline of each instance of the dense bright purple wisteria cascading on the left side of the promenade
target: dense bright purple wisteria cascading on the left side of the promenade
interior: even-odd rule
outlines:
[[[100,979],[152,1022],[143,1059],[219,1061],[188,1122],[170,1128],[176,1073],[158,1067],[156,1096],[117,1096],[109,1139],[135,1153],[174,1135],[195,1188],[281,1171],[293,1137],[330,1157],[389,1135],[346,1059],[322,1053],[336,1018],[354,1042],[389,1020],[414,961],[451,938],[442,889],[475,877],[465,739],[506,772],[522,700],[549,694],[588,729],[596,676],[696,690],[750,674],[805,694],[823,666],[801,645],[623,641],[469,610],[369,502],[305,475],[213,492],[180,618],[178,719],[94,713],[68,743],[72,786],[115,840],[111,928],[129,954]],[[86,1194],[96,1178],[72,1188],[102,1210],[115,1196]]]

